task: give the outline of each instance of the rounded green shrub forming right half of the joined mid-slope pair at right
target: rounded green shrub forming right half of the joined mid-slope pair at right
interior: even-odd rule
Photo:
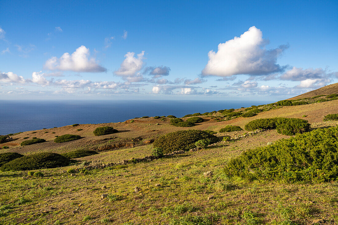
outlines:
[[[284,135],[295,135],[310,130],[310,124],[307,120],[297,118],[279,118],[276,121],[276,131]]]

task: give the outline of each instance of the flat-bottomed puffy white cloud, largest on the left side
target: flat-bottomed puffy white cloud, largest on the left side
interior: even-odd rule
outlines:
[[[106,68],[98,65],[95,58],[89,58],[90,51],[86,46],[80,46],[71,55],[66,52],[60,58],[52,57],[44,65],[48,70],[74,72],[105,72]]]

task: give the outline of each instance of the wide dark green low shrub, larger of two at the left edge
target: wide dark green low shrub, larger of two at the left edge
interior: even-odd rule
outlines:
[[[1,171],[10,170],[36,170],[42,168],[55,168],[68,166],[70,159],[50,152],[36,153],[32,155],[22,156],[5,163],[0,168]]]

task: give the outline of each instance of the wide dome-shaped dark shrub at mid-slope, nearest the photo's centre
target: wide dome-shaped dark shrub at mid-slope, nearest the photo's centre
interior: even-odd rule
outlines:
[[[160,136],[153,143],[155,148],[162,148],[163,153],[170,153],[178,150],[189,150],[195,147],[195,142],[209,139],[215,143],[218,138],[201,130],[180,130]]]

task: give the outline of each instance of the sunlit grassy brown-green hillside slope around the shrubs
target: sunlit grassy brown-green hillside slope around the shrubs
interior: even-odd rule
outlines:
[[[313,128],[336,126],[337,122],[322,122],[322,118],[337,113],[337,104],[338,100],[284,106],[251,118],[223,122],[209,120],[194,128],[218,131],[229,124],[244,127],[247,122],[258,118],[301,118],[302,115],[307,115],[305,119],[309,120]],[[156,122],[162,125],[154,125]],[[103,125],[111,125],[126,132],[104,137],[93,136],[92,131]],[[79,128],[83,130],[76,131]],[[161,122],[152,118],[138,119],[132,124],[66,126],[39,130],[34,134],[31,134],[32,131],[17,134],[14,142],[19,144],[25,136],[53,140],[54,135],[65,133],[79,134],[85,138],[70,143],[47,142],[9,150],[25,154],[46,150],[65,152],[86,145],[109,146],[115,141],[138,136],[148,140],[161,133],[180,129],[189,128],[173,127],[168,121]],[[49,133],[44,133],[45,131]],[[55,134],[50,134],[51,132]],[[245,131],[230,134],[243,132]],[[110,137],[117,138],[104,140]],[[266,145],[267,142],[281,138],[288,136],[280,135],[274,130],[264,131],[235,142],[219,142],[197,152],[120,169],[94,170],[89,175],[78,174],[75,177],[64,171],[76,168],[80,163],[64,168],[43,169],[41,171],[46,174],[43,178],[22,179],[26,172],[3,172],[0,173],[0,224],[168,224],[172,218],[182,219],[185,215],[202,216],[211,213],[218,215],[213,224],[290,224],[290,221],[312,224],[313,220],[321,218],[327,219],[328,224],[336,224],[338,182],[316,185],[247,183],[224,177],[222,169],[231,157],[239,155],[245,149]],[[129,140],[127,143],[132,142]],[[135,144],[136,147],[126,149],[114,148],[113,151],[106,150],[80,160],[110,163],[149,155],[152,146],[140,145]],[[214,172],[213,178],[203,176],[203,172],[209,170]],[[156,183],[161,186],[155,186]],[[103,185],[106,186],[104,190],[101,189]],[[139,193],[134,193],[135,186],[141,188]],[[115,197],[111,201],[101,200],[101,194]],[[214,198],[208,200],[210,195]],[[74,214],[76,209],[78,210]]]

